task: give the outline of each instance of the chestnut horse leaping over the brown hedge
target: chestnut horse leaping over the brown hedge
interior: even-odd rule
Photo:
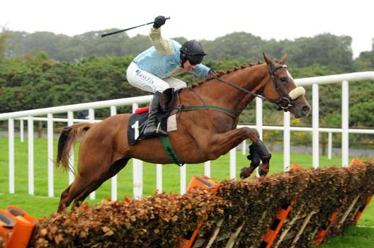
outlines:
[[[288,72],[285,65],[287,55],[277,60],[263,53],[263,59],[265,62],[216,72],[179,91],[171,112],[178,115],[177,130],[169,132],[168,137],[183,163],[197,164],[217,159],[243,140],[250,139],[253,142],[249,147],[252,163],[242,169],[240,176],[245,179],[256,167],[261,175],[266,176],[271,154],[259,139],[256,129],[237,128],[239,114],[255,97],[275,103],[279,110],[290,111],[295,118],[308,115],[310,104],[305,99],[304,88],[297,87]],[[122,113],[100,123],[77,123],[62,130],[57,167],[69,169],[69,152],[81,136],[83,139],[79,147],[78,173],[62,192],[58,212],[73,201],[73,206],[79,206],[89,193],[117,174],[131,158],[154,164],[173,162],[158,136],[137,141],[135,145],[128,144],[130,115]]]

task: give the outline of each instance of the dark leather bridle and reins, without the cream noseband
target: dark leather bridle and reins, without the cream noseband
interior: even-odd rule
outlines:
[[[266,84],[260,89],[260,91],[259,91],[260,93],[256,94],[252,91],[244,89],[242,86],[239,86],[237,84],[233,84],[231,81],[227,81],[225,79],[221,79],[220,77],[216,77],[215,75],[213,76],[213,78],[217,79],[218,81],[222,81],[222,83],[228,84],[229,86],[232,86],[235,89],[238,89],[239,91],[243,91],[246,94],[250,94],[254,97],[261,98],[263,101],[268,101],[268,102],[271,102],[271,103],[275,103],[278,106],[278,110],[288,111],[288,108],[294,106],[293,105],[293,100],[294,99],[291,99],[288,94],[285,94],[283,89],[279,86],[278,81],[276,81],[276,77],[274,77],[274,72],[276,72],[278,69],[281,69],[281,68],[287,68],[287,65],[281,64],[281,65],[278,65],[277,67],[273,67],[273,68],[268,67],[268,72],[270,74],[271,81],[273,81],[274,87],[280,95],[280,98],[278,99],[278,101],[270,99],[270,98],[266,98],[265,96],[261,95],[263,89],[265,89],[266,84],[268,84],[268,81],[266,81]]]

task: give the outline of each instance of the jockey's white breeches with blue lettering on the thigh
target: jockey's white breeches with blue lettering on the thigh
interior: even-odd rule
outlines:
[[[159,77],[140,69],[137,64],[131,62],[127,72],[128,82],[139,89],[144,91],[155,93],[157,91],[162,92],[168,88],[182,89],[186,88],[186,83],[174,77],[165,77],[160,79]]]

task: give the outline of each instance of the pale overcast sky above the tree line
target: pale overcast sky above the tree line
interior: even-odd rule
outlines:
[[[171,17],[162,29],[166,38],[213,40],[244,31],[264,40],[293,40],[331,33],[353,38],[353,57],[370,51],[374,38],[373,0],[3,0],[0,8],[0,27],[28,33],[125,29],[163,15]]]

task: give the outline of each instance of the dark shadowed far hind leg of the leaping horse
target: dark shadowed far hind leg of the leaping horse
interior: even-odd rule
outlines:
[[[89,194],[91,192],[95,191],[99,186],[101,186],[101,184],[103,184],[104,181],[110,179],[115,174],[118,174],[118,172],[121,169],[123,169],[123,167],[125,167],[126,164],[128,164],[129,160],[130,159],[117,160],[116,162],[114,162],[111,165],[111,168],[106,173],[101,174],[101,176],[98,179],[96,179],[95,181],[91,181],[91,183],[84,189],[84,191],[81,192],[79,194],[79,196],[77,196],[74,199],[74,206],[77,207],[77,206],[81,205],[81,203],[84,201],[84,199],[87,196],[89,196]]]

